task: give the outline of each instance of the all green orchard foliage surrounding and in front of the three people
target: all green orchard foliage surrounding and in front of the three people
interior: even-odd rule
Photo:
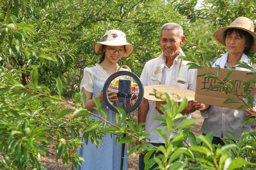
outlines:
[[[128,65],[140,76],[144,64],[161,53],[159,34],[167,22],[183,26],[186,41],[182,49],[194,68],[205,66],[206,60],[218,58],[225,47],[211,34],[228,26],[236,17],[255,21],[255,0],[1,0],[0,1],[0,169],[43,169],[38,161],[55,143],[56,160],[62,159],[76,167],[82,158],[76,155],[81,145],[80,133],[86,142],[101,143],[105,133],[119,133],[119,143],[129,142],[136,151],[134,140],[147,137],[142,124],[126,120],[119,109],[117,120],[123,124],[95,122],[91,112],[81,107],[86,96],[79,92],[83,68],[99,61],[93,45],[101,41],[110,29],[126,33],[135,51],[119,65]],[[255,54],[249,57],[255,58]],[[254,60],[253,60],[254,61]],[[253,63],[252,63],[253,64]],[[197,65],[197,66],[195,66]],[[241,63],[241,67],[245,66]],[[71,96],[73,102],[65,97]],[[95,98],[96,109],[100,102]],[[224,147],[210,144],[212,134],[195,137],[190,126],[194,120],[180,114],[180,106],[168,100],[162,108],[163,126],[170,136],[157,132],[166,139],[166,146],[154,148],[150,144],[138,152],[158,150],[163,156],[149,160],[160,169],[254,169],[255,132],[244,133],[234,143],[225,140]],[[252,102],[251,100],[249,102]],[[73,109],[63,109],[72,105]],[[92,115],[93,116],[93,115]],[[95,116],[95,115],[94,115]],[[178,127],[174,122],[182,120]],[[247,120],[248,123],[251,120]],[[125,138],[121,138],[126,133]],[[229,133],[229,132],[227,132]],[[175,137],[171,139],[173,136]],[[229,133],[230,136],[232,134]],[[182,142],[183,141],[183,142]],[[191,146],[186,146],[189,141]]]

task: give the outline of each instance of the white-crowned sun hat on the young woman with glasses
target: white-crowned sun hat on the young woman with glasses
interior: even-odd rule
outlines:
[[[102,54],[103,49],[102,45],[108,46],[122,46],[125,45],[125,53],[122,57],[128,58],[134,51],[134,46],[126,42],[126,35],[122,31],[119,30],[109,30],[107,31],[103,37],[102,42],[97,42],[94,44],[94,52],[95,54]]]

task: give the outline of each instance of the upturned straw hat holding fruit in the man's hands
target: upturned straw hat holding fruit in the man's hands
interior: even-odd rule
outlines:
[[[166,93],[176,93],[181,99],[175,102],[182,102],[183,98],[186,97],[188,101],[192,101],[195,98],[195,92],[177,87],[174,85],[147,85],[144,86],[144,98],[147,100],[155,101],[156,107],[160,107],[161,104],[166,104],[166,101],[157,99],[155,95],[150,95],[149,93],[154,93],[154,90],[164,91]]]

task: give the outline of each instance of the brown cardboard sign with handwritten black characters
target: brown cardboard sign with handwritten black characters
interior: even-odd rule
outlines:
[[[224,82],[227,81],[226,75],[230,69],[220,68],[219,78],[221,78]],[[212,68],[212,72],[217,75],[216,68]],[[203,73],[210,73],[205,69],[198,69],[197,75],[201,75]],[[229,80],[233,80],[236,84],[235,93],[238,94],[241,98],[243,98],[243,83],[249,80],[255,80],[256,77],[253,75],[247,75],[247,71],[234,70],[232,74],[229,76]],[[195,92],[195,100],[204,104],[225,107],[230,109],[238,109],[243,103],[223,103],[226,99],[235,99],[239,102],[241,100],[233,93],[223,93],[224,90],[228,90],[228,88],[219,87],[213,90],[209,90],[212,85],[223,85],[219,80],[213,80],[210,77],[197,77],[196,81],[196,92]],[[250,94],[254,97],[255,92],[255,83],[250,83],[249,88],[245,97]]]

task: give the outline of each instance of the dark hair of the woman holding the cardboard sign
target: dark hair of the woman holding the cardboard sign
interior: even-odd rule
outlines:
[[[248,55],[250,53],[250,50],[251,50],[251,48],[253,46],[253,43],[254,43],[253,36],[250,33],[248,33],[247,31],[244,31],[244,30],[241,30],[241,29],[238,29],[238,28],[229,28],[224,33],[224,36],[223,36],[224,43],[225,43],[227,35],[230,35],[233,32],[235,32],[239,37],[245,38],[247,47],[245,48],[244,53],[246,55]]]

